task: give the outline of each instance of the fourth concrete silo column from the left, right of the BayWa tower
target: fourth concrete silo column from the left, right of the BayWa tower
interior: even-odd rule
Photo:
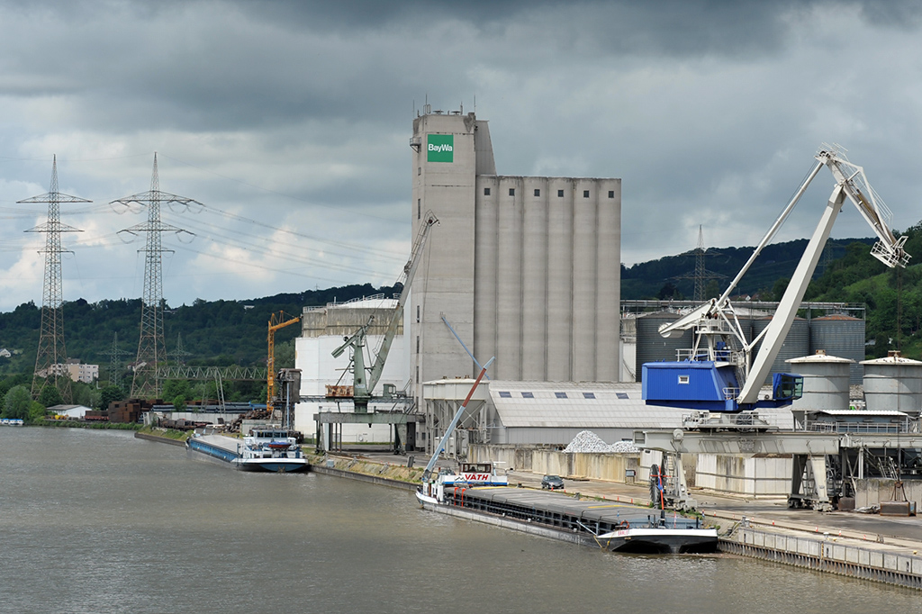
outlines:
[[[569,382],[573,380],[573,183],[551,179],[548,191],[548,380]]]

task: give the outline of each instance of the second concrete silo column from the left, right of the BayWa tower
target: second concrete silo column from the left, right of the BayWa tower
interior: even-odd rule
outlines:
[[[500,177],[494,377],[522,379],[522,205],[520,177]]]

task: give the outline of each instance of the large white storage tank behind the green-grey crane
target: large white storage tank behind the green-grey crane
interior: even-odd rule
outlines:
[[[376,295],[361,300],[330,303],[325,307],[305,307],[301,314],[301,336],[295,340],[295,368],[301,370],[301,399],[295,408],[295,429],[308,437],[313,436],[313,415],[320,411],[352,411],[350,399],[337,399],[326,395],[327,385],[352,385],[349,370],[349,351],[338,358],[333,350],[343,343],[343,337],[354,334],[374,317],[365,337],[365,364],[370,367],[381,345],[384,332],[395,313],[397,301]],[[391,344],[381,379],[372,391],[380,396],[384,386],[394,386],[397,391],[407,389],[409,382],[409,353],[403,334],[403,325],[397,328]],[[390,410],[392,402],[372,401],[369,411]],[[344,424],[344,442],[388,442],[391,438],[387,424]]]

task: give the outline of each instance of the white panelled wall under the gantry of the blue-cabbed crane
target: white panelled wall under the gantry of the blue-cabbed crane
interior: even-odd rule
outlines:
[[[694,484],[753,499],[786,498],[791,470],[791,458],[784,456],[698,455]]]

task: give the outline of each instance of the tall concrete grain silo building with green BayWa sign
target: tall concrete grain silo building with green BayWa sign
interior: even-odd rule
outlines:
[[[498,175],[474,113],[427,106],[410,146],[413,236],[441,221],[407,306],[417,406],[422,383],[476,374],[468,351],[493,379],[617,382],[621,180]]]

